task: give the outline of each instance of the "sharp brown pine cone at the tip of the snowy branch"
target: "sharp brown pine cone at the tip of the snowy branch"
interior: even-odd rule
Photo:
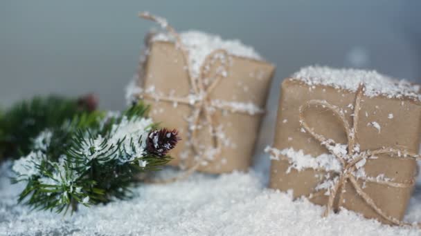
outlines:
[[[152,155],[163,157],[169,150],[175,147],[178,141],[179,132],[177,130],[168,130],[163,128],[161,130],[152,130],[147,135],[146,150]]]

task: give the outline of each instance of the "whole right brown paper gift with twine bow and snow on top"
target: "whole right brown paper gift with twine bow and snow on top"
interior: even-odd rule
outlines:
[[[420,86],[377,72],[308,67],[285,79],[270,188],[331,210],[401,222],[415,183]]]

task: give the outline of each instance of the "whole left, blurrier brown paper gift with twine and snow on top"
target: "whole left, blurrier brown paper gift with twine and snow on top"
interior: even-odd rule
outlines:
[[[182,141],[170,164],[190,172],[247,170],[274,66],[240,41],[197,31],[178,34],[165,19],[141,17],[167,32],[147,39],[127,98],[144,99],[154,120],[179,130]]]

